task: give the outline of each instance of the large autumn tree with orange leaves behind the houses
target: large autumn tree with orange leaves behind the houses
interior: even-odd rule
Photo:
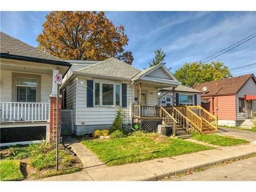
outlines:
[[[46,16],[38,48],[62,59],[104,60],[116,57],[130,65],[131,51],[123,26],[115,26],[104,12],[52,11]]]

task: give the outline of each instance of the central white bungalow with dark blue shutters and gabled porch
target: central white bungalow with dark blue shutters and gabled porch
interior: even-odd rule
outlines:
[[[159,118],[158,89],[180,84],[164,65],[140,71],[113,57],[71,68],[65,79],[60,88],[63,109],[73,110],[75,135],[110,129],[118,107],[124,124],[143,117]]]

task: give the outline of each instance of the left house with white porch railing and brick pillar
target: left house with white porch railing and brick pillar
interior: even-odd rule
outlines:
[[[71,64],[3,32],[0,39],[1,146],[54,142],[57,86],[53,75],[64,76]],[[59,109],[60,105],[61,98]]]

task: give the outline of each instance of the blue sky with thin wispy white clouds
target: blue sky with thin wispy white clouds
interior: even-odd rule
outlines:
[[[1,12],[1,31],[37,46],[36,37],[48,12]],[[126,50],[133,66],[143,69],[154,50],[166,53],[166,67],[174,72],[184,62],[199,61],[256,32],[256,12],[105,12],[123,25],[129,38]],[[229,68],[256,62],[256,37],[214,59]],[[231,71],[256,74],[256,65]]]

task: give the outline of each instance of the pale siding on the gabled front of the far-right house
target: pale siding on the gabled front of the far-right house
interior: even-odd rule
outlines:
[[[245,95],[256,95],[256,83],[250,78],[242,89],[236,95],[236,120],[245,120],[248,117],[247,114],[247,102],[245,101],[245,112],[239,112],[239,98],[245,98]],[[252,111],[256,111],[256,101],[252,101]]]

